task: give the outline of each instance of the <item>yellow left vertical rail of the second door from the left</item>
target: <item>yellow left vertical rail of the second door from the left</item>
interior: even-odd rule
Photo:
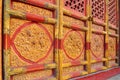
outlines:
[[[58,22],[59,22],[59,32],[58,32],[58,46],[60,46],[58,48],[58,54],[59,54],[59,80],[64,80],[63,79],[63,75],[62,75],[62,71],[63,71],[63,68],[62,68],[62,38],[63,38],[63,0],[58,0],[59,2],[59,8],[58,8]]]

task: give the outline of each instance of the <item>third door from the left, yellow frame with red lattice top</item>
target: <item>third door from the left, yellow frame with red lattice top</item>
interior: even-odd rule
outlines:
[[[91,72],[107,69],[107,9],[105,0],[91,0]]]

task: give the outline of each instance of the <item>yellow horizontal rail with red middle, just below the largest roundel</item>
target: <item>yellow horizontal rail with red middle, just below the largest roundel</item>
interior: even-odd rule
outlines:
[[[9,75],[16,75],[16,74],[22,74],[27,72],[33,72],[38,70],[46,70],[46,69],[54,69],[56,68],[55,63],[51,64],[34,64],[34,65],[28,65],[28,66],[21,66],[21,67],[11,67],[9,68]]]

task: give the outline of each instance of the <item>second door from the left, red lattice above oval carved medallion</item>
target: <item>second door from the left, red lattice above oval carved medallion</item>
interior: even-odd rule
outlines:
[[[62,40],[61,80],[88,74],[88,0],[60,0]]]

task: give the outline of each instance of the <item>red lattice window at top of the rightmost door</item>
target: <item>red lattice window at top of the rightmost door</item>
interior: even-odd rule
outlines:
[[[117,10],[116,10],[116,0],[109,0],[108,3],[108,15],[109,22],[113,25],[116,25],[117,22]]]

